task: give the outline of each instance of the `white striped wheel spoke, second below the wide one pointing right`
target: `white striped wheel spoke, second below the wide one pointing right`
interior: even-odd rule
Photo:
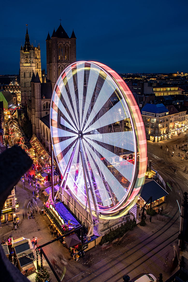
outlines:
[[[84,144],[86,143],[85,140],[83,140]],[[86,143],[87,144],[87,143]],[[111,173],[111,171],[105,166],[105,164],[101,161],[101,159],[96,155],[96,153],[91,149],[89,145],[85,145],[90,154],[92,155],[93,159],[95,160],[96,164],[98,165],[101,173],[103,174],[105,181],[107,181],[108,185],[112,189],[112,192],[118,199],[118,201],[121,201],[122,197],[125,196],[125,189],[120,182],[116,179],[116,177]]]

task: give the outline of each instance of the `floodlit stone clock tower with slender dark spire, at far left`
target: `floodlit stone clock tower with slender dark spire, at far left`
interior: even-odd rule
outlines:
[[[31,98],[31,78],[32,74],[38,72],[41,78],[41,50],[40,45],[34,47],[29,42],[28,30],[26,30],[25,44],[20,48],[20,90],[21,105],[26,105],[28,99]]]

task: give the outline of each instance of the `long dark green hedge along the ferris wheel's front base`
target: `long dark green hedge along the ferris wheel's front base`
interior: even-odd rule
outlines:
[[[130,220],[127,220],[124,224],[121,223],[121,226],[116,229],[110,228],[109,233],[105,234],[102,237],[100,245],[106,242],[112,241],[119,236],[122,236],[125,232],[132,230],[134,226],[136,226],[136,220],[130,219]]]

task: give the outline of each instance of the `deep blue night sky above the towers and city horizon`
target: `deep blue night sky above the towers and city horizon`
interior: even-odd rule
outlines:
[[[188,72],[188,1],[3,1],[0,74],[18,74],[19,50],[40,43],[46,69],[46,38],[61,24],[74,28],[77,61],[99,61],[116,72]]]

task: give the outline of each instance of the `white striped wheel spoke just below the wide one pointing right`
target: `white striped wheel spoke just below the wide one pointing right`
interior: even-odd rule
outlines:
[[[91,141],[89,138],[87,138],[87,141],[102,157],[112,164],[112,166],[119,171],[123,177],[125,177],[129,182],[131,181],[134,170],[134,165],[131,162],[124,160],[120,156],[100,146],[98,143]]]

